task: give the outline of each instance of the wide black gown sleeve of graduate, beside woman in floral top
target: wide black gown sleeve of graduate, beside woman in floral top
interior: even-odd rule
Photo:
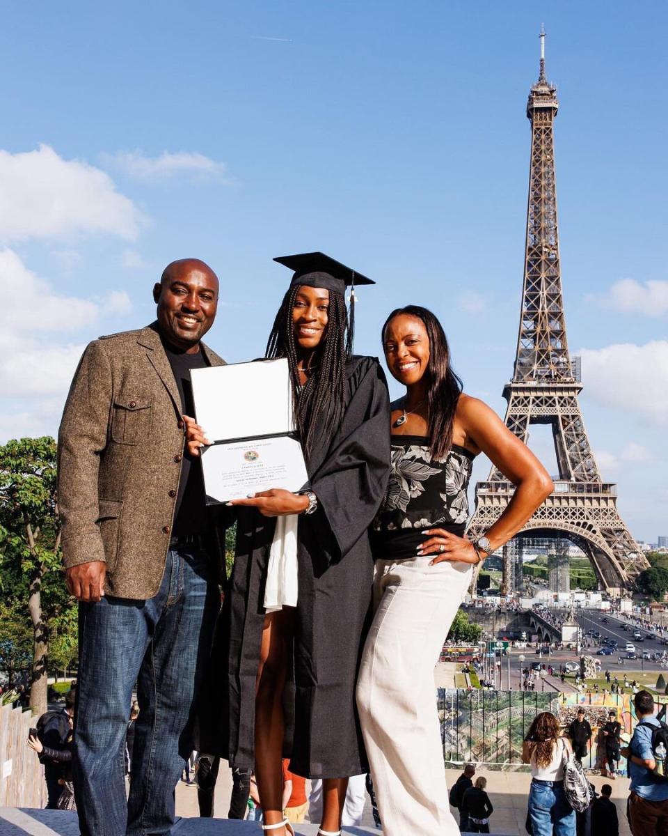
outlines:
[[[363,358],[348,383],[351,395],[341,426],[311,477],[319,506],[313,523],[329,528],[335,561],[366,534],[390,472],[390,402],[377,359]]]

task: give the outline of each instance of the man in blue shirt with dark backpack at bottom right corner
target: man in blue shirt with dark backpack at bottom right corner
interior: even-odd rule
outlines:
[[[638,725],[630,744],[620,751],[629,758],[631,830],[638,836],[663,836],[668,832],[668,726],[654,716],[654,698],[649,691],[638,691],[633,704]]]

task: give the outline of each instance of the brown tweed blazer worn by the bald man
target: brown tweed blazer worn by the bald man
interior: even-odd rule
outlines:
[[[225,364],[205,344],[202,350],[211,365]],[[179,390],[158,324],[90,343],[58,431],[66,568],[103,560],[106,594],[139,600],[157,594],[184,445]]]

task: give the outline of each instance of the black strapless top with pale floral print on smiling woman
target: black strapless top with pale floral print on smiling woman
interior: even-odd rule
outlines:
[[[473,453],[453,445],[433,459],[424,436],[392,436],[387,493],[372,524],[375,559],[414,558],[425,528],[462,537],[468,520],[468,482]]]

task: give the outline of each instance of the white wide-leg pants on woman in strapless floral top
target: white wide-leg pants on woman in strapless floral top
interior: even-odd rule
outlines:
[[[377,560],[376,615],[357,707],[385,836],[456,836],[434,665],[471,581],[469,563]]]

